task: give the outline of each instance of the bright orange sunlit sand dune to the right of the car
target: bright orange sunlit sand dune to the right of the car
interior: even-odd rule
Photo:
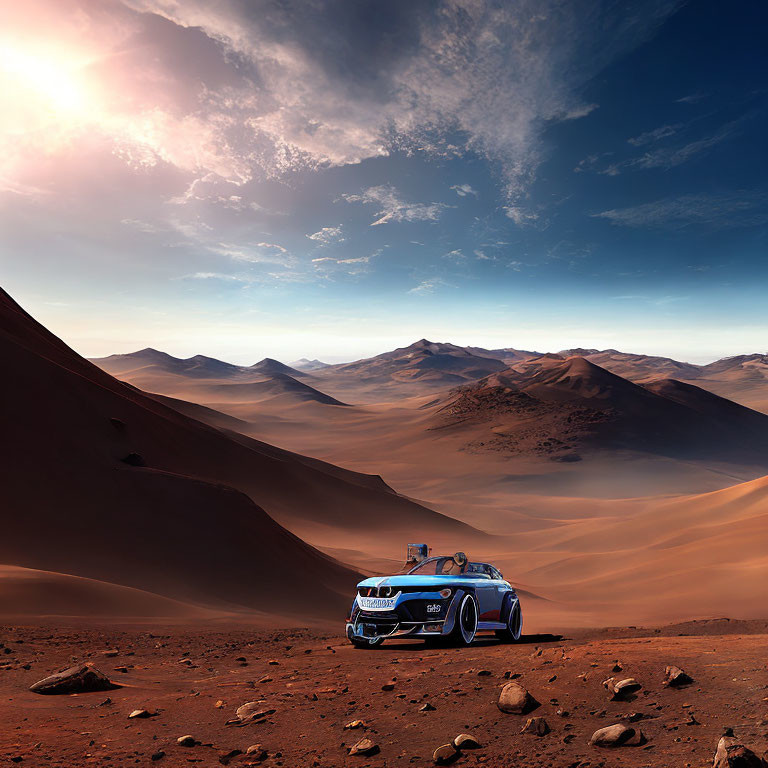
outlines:
[[[768,477],[614,512],[521,534],[497,559],[592,620],[765,615]]]

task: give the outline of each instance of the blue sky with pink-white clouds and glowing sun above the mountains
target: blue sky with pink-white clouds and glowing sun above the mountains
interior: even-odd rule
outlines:
[[[2,285],[86,355],[765,350],[762,3],[4,14]]]

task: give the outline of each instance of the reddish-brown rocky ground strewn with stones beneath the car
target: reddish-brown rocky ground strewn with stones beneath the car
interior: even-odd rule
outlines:
[[[698,768],[712,764],[727,728],[764,754],[767,651],[764,621],[579,631],[516,645],[480,640],[469,649],[391,642],[371,651],[309,630],[6,626],[0,766],[433,765],[435,750],[469,734],[460,752],[444,747],[441,759]],[[29,690],[83,662],[120,687]],[[669,665],[693,682],[665,686]],[[612,700],[603,684],[611,677],[612,689],[627,678],[640,688],[625,686],[630,692]],[[535,699],[523,714],[498,706],[510,683]],[[237,710],[249,702],[241,720]],[[641,743],[590,744],[614,724],[634,730],[628,744]]]

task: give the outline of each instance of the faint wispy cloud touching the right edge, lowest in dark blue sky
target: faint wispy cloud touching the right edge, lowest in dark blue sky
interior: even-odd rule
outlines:
[[[766,196],[682,195],[651,203],[615,208],[592,214],[624,227],[680,230],[693,226],[715,229],[758,226],[768,223]]]

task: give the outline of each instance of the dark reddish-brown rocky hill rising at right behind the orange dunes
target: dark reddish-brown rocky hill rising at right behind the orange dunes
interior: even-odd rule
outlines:
[[[768,466],[765,414],[675,380],[641,386],[583,357],[542,356],[459,388],[436,419],[483,450],[567,461],[621,449]]]

